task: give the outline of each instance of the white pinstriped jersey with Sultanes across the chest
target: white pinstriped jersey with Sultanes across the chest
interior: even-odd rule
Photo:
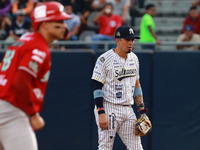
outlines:
[[[139,79],[138,58],[131,52],[125,60],[111,49],[97,59],[92,79],[104,84],[102,91],[106,101],[133,105],[135,83]]]

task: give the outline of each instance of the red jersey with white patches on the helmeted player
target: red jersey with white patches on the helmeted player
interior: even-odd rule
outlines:
[[[20,108],[15,99],[16,91],[12,87],[13,76],[17,70],[23,70],[35,79],[31,84],[33,107],[40,112],[51,68],[51,53],[43,36],[31,33],[16,41],[5,52],[0,67],[0,99],[6,100]],[[24,110],[27,114],[30,112]]]

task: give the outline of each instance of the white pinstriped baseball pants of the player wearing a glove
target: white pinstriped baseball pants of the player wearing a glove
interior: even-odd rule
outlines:
[[[98,126],[99,150],[112,150],[116,133],[120,136],[127,150],[143,150],[141,139],[134,134],[134,122],[137,120],[131,106],[115,105],[104,101],[104,108],[109,121],[109,130],[101,130],[97,109],[94,113]]]

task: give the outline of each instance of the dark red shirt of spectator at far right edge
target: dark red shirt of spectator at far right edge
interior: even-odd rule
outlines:
[[[185,31],[185,26],[186,25],[191,25],[194,28],[194,33],[200,34],[200,15],[196,19],[193,19],[191,17],[185,18],[183,22],[183,27],[182,27],[182,33]]]

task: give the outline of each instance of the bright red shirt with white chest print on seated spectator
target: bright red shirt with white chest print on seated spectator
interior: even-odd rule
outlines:
[[[117,27],[122,26],[122,19],[119,15],[112,14],[110,17],[102,15],[99,17],[99,33],[113,36]]]

